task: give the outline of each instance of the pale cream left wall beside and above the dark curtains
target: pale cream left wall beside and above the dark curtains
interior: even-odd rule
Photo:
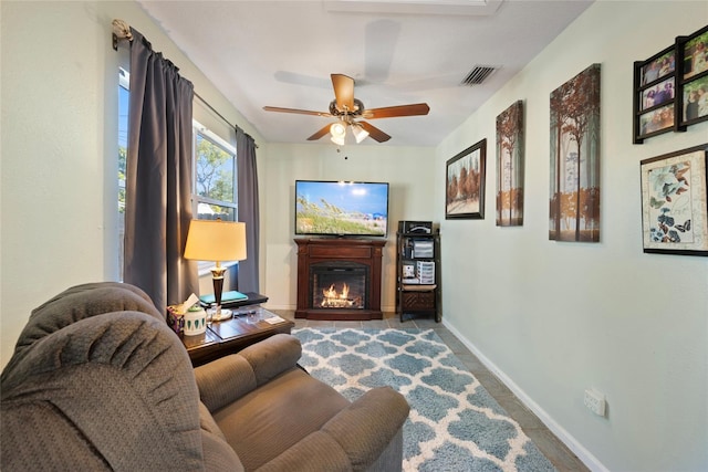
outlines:
[[[0,8],[4,366],[32,308],[71,285],[117,276],[116,91],[127,53],[112,49],[114,18],[148,38],[231,123],[260,137],[134,2]]]

